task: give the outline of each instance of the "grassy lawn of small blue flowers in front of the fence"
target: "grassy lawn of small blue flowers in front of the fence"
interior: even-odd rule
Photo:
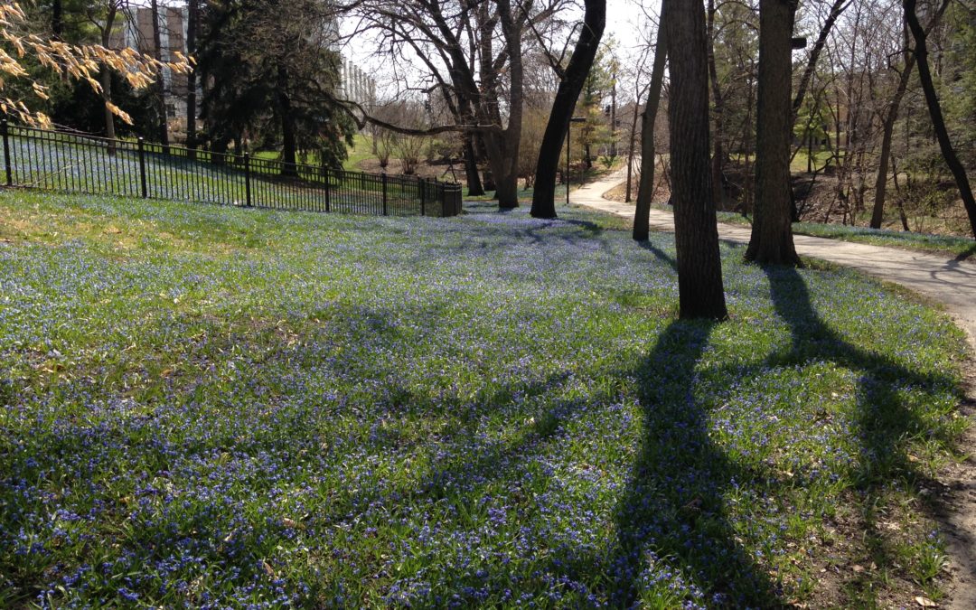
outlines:
[[[0,193],[0,606],[939,599],[944,315],[469,211]]]

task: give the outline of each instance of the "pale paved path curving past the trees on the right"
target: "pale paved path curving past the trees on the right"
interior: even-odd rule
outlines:
[[[633,218],[630,203],[610,201],[603,193],[623,182],[618,173],[603,181],[590,183],[570,193],[570,202],[624,218]],[[673,231],[670,212],[651,210],[652,230]],[[749,243],[750,227],[718,224],[722,240]],[[976,351],[976,262],[963,257],[909,252],[869,244],[851,243],[823,237],[795,235],[796,251],[807,257],[856,268],[900,284],[944,305],[956,323],[966,331],[969,344]],[[970,361],[965,371],[968,398],[961,405],[963,415],[972,416],[976,407],[976,367]],[[976,608],[976,429],[970,428],[961,440],[966,460],[947,469],[940,477],[942,489],[930,490],[939,498],[936,507],[947,534],[955,581],[950,599],[942,607],[972,610]]]

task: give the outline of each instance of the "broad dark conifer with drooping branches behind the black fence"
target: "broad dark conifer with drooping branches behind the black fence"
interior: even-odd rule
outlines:
[[[215,149],[247,135],[286,160],[313,151],[341,167],[355,124],[335,102],[340,57],[331,17],[313,0],[219,0],[206,5],[198,49],[202,112]],[[294,142],[293,142],[294,140]]]

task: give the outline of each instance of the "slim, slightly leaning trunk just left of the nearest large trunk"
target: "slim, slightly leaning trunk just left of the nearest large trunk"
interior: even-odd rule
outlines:
[[[661,7],[661,22],[664,22],[667,4]],[[654,66],[651,68],[651,84],[647,88],[647,103],[640,119],[640,182],[637,184],[637,205],[633,210],[633,238],[647,239],[650,231],[651,195],[654,194],[654,168],[656,167],[654,149],[654,125],[661,103],[661,86],[664,83],[665,65],[668,63],[668,39],[665,28],[658,27],[658,43],[654,48]]]

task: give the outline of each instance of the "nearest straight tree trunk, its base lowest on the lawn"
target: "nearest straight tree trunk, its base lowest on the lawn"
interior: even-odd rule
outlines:
[[[728,317],[709,174],[709,66],[705,7],[664,0],[671,57],[671,201],[681,318]]]

